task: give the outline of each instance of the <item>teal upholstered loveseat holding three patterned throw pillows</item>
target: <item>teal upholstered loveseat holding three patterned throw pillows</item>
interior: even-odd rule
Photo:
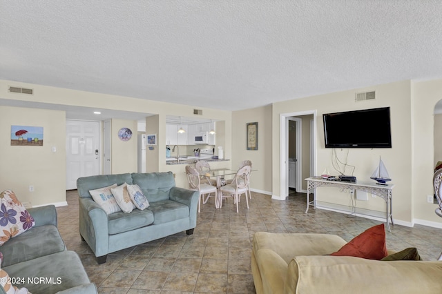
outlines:
[[[113,184],[137,184],[150,206],[109,215],[90,195]],[[77,179],[79,232],[92,249],[98,264],[108,253],[186,231],[196,227],[198,192],[175,186],[173,173],[124,173],[95,175]]]

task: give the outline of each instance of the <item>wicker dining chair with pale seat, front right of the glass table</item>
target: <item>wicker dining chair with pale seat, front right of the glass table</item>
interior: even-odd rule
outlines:
[[[219,206],[222,207],[222,198],[224,197],[223,193],[227,195],[233,196],[233,203],[236,204],[236,213],[239,212],[238,206],[240,202],[240,195],[246,195],[247,209],[249,209],[249,199],[247,197],[247,192],[249,191],[249,180],[250,180],[250,171],[251,166],[243,166],[238,170],[235,175],[235,182],[221,186],[220,188],[220,200]]]

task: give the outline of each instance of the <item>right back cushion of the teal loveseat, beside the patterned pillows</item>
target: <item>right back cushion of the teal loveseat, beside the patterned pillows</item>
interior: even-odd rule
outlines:
[[[169,199],[169,191],[175,186],[172,172],[166,173],[133,173],[133,184],[140,186],[148,202]]]

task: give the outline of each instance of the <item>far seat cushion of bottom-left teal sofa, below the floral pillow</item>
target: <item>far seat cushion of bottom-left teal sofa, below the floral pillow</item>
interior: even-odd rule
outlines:
[[[3,253],[2,266],[26,262],[65,250],[66,246],[56,226],[52,224],[35,226],[1,246],[1,252]]]

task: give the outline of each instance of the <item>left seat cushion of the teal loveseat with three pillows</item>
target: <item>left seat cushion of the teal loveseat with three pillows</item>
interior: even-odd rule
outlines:
[[[139,210],[135,208],[131,213],[113,213],[108,215],[109,234],[115,235],[126,231],[142,228],[153,223],[153,213],[151,210]]]

